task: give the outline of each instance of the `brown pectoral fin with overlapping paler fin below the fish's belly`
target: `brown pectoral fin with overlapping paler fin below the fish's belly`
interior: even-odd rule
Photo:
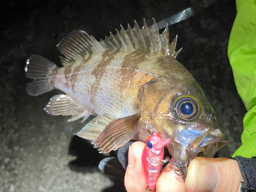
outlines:
[[[92,144],[100,147],[99,153],[117,150],[137,134],[139,114],[113,119],[108,114],[100,115],[89,122],[76,135],[84,139],[95,139]]]

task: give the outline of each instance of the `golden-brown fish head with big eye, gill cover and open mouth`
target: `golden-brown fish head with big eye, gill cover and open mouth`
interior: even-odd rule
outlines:
[[[141,116],[151,130],[170,138],[168,151],[185,180],[191,160],[214,157],[227,143],[214,110],[193,78],[173,87],[166,80],[155,81],[143,89]]]

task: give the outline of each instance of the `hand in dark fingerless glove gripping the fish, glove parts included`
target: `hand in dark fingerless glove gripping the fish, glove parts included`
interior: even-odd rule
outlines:
[[[129,147],[133,143],[134,141],[130,141],[123,147],[119,148],[119,150],[117,151],[118,158],[110,157],[103,159],[100,162],[99,168],[103,173],[114,176],[120,180],[124,180],[125,169],[127,168],[128,164],[127,160],[129,159],[129,168],[127,168],[125,175],[125,187],[127,191],[140,191],[140,188],[141,191],[144,191],[146,188],[146,181],[143,177],[141,167],[141,154],[144,143],[134,143],[133,147],[130,148],[129,151]],[[128,157],[128,154],[130,157]],[[208,167],[210,167],[209,170],[207,169]],[[216,167],[218,168],[216,169]],[[182,178],[177,176],[173,172],[173,170],[166,166],[160,175],[157,184],[158,189],[160,191],[165,191],[165,189],[166,191],[169,191],[171,189],[172,191],[194,191],[195,186],[200,187],[200,189],[202,190],[205,190],[205,187],[208,187],[207,189],[209,189],[209,187],[211,186],[215,188],[216,186],[213,185],[214,182],[212,181],[213,175],[209,177],[210,181],[205,181],[205,176],[200,177],[200,181],[202,182],[197,181],[199,177],[196,176],[196,174],[199,169],[205,170],[204,172],[201,170],[200,174],[204,175],[205,173],[206,176],[209,171],[216,172],[216,170],[218,170],[218,174],[221,174],[221,180],[219,180],[220,178],[218,179],[217,191],[238,191],[242,176],[242,191],[256,191],[256,183],[254,182],[256,178],[256,159],[246,159],[243,157],[235,157],[234,160],[228,158],[196,158],[189,164],[186,182],[184,182]],[[242,172],[242,176],[240,171]],[[170,180],[172,180],[172,182],[170,182]],[[175,182],[176,185],[174,184]],[[132,183],[132,185],[129,185],[129,183]],[[169,185],[169,183],[173,184]],[[199,186],[200,183],[201,185]],[[165,188],[162,188],[162,190],[160,186],[165,186]],[[168,188],[167,186],[170,188]],[[174,188],[175,186],[177,186],[178,188]]]

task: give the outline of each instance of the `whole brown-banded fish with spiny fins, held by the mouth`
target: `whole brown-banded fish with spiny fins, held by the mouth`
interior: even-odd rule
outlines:
[[[72,115],[69,122],[96,116],[76,135],[92,140],[99,153],[132,139],[145,142],[153,131],[169,138],[168,152],[185,180],[191,160],[214,157],[227,140],[203,90],[176,59],[181,49],[177,35],[169,42],[168,30],[160,34],[153,19],[150,27],[135,21],[99,41],[73,31],[57,45],[62,67],[39,55],[27,60],[26,77],[34,79],[27,93],[66,93],[53,96],[45,111]]]

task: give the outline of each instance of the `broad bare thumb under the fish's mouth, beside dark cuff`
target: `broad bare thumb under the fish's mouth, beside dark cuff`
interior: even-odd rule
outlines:
[[[236,160],[197,157],[188,165],[186,191],[239,191],[241,179]]]

